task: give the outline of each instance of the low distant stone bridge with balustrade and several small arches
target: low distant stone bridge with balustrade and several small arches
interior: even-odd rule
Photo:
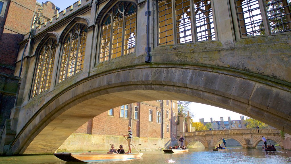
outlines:
[[[201,142],[205,148],[214,148],[217,144],[221,144],[221,137],[226,139],[226,142],[227,139],[234,139],[239,142],[243,148],[256,148],[258,143],[262,141],[261,136],[283,147],[280,130],[278,129],[259,129],[259,133],[257,129],[206,130],[186,132],[183,135],[185,136],[186,145]]]

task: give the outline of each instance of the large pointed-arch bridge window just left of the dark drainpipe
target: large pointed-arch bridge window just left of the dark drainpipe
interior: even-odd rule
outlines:
[[[118,2],[105,15],[101,24],[99,62],[135,51],[136,6]]]

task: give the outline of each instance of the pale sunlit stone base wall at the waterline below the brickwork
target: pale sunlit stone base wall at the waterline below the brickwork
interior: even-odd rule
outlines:
[[[108,151],[111,149],[111,145],[114,144],[114,148],[118,149],[120,144],[123,145],[125,151],[128,150],[126,139],[119,135],[89,135],[73,133],[62,145],[57,152],[74,152],[74,151]],[[142,138],[134,137],[132,145],[138,151],[144,150],[158,150],[161,148],[174,146],[177,141],[170,138]],[[132,151],[135,151],[132,148]]]

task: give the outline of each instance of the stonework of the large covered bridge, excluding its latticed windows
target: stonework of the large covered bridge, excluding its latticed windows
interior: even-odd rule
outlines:
[[[8,154],[52,153],[72,132],[104,111],[127,103],[162,99],[221,107],[291,133],[290,33],[241,37],[237,23],[232,22],[237,18],[230,12],[236,10],[233,2],[212,1],[217,6],[216,40],[158,46],[157,24],[152,20],[148,32],[152,61],[146,64],[146,23],[140,21],[145,19],[146,4],[139,1],[135,51],[96,62],[100,27],[94,20],[109,1],[90,3],[76,3],[73,7],[78,9],[68,8],[67,13],[53,18],[54,23],[38,27],[34,40],[26,36],[23,43],[30,43],[29,50],[21,45],[19,52],[25,52],[24,71],[10,119],[14,136],[7,137]],[[153,18],[157,19],[155,5],[151,7]],[[58,83],[62,52],[59,45],[52,86],[35,97],[28,96],[36,69],[37,55],[32,53],[35,47],[47,32],[62,40],[67,27],[78,21],[89,23],[83,69]],[[17,61],[16,74],[21,59]]]

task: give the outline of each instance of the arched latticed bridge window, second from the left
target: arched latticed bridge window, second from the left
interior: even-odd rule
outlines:
[[[87,33],[86,25],[76,24],[66,35],[63,42],[59,82],[83,69]]]

